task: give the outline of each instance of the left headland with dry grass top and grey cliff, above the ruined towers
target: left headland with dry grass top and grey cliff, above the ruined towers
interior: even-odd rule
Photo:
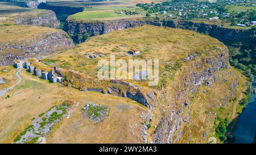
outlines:
[[[1,28],[0,65],[13,65],[16,58],[27,59],[59,53],[72,48],[67,33],[47,27],[7,26]]]

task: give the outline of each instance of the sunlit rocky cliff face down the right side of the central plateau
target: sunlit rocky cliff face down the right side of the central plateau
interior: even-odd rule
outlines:
[[[171,110],[167,111],[166,117],[162,118],[158,124],[154,143],[177,143],[183,136],[185,137],[183,135],[184,124],[193,124],[191,120],[195,119],[191,117],[188,110],[185,111],[185,108],[192,108],[193,95],[201,86],[212,79],[220,69],[229,68],[228,50],[224,48],[218,55],[189,62],[189,66],[189,68],[181,69],[184,73],[182,76],[177,75],[176,79],[182,82],[175,86],[175,91],[165,90],[166,93],[163,92],[165,96],[163,98],[168,98],[169,95],[174,100],[170,104]]]

